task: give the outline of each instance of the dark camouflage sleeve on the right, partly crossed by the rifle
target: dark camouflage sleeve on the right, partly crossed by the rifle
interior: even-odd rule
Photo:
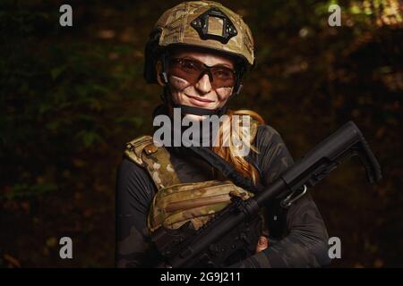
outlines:
[[[259,127],[256,147],[259,151],[257,164],[265,185],[270,185],[294,164],[279,132],[270,126]],[[233,266],[320,267],[329,264],[328,233],[318,208],[307,194],[290,206],[287,212],[287,236]]]

